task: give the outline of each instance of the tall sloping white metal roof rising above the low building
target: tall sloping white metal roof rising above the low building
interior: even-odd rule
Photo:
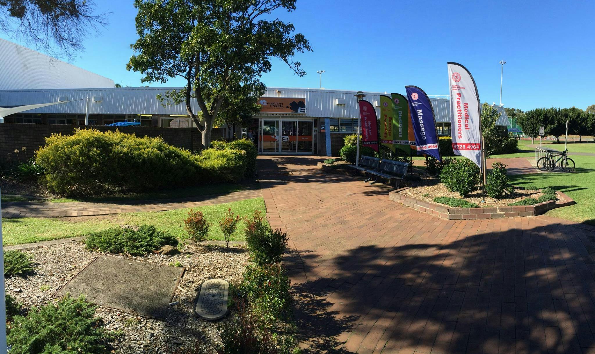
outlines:
[[[114,80],[0,38],[0,90],[114,87]]]

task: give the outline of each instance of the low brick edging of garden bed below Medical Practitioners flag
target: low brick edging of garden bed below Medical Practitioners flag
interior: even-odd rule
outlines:
[[[537,203],[534,205],[515,205],[515,206],[493,206],[486,208],[450,208],[449,206],[438,205],[417,198],[412,198],[399,193],[402,190],[408,189],[404,187],[393,190],[389,193],[391,201],[400,202],[403,205],[410,206],[418,211],[427,214],[435,215],[440,218],[449,220],[472,220],[472,219],[496,219],[496,218],[513,218],[513,217],[534,217],[543,214],[544,212],[560,208],[566,205],[576,204],[562,192],[556,192],[558,198],[565,199],[565,201],[549,201]]]

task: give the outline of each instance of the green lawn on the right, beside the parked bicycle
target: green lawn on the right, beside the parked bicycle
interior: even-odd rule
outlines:
[[[547,215],[580,223],[595,224],[595,156],[572,156],[577,173],[534,173],[511,176],[515,186],[534,184],[566,193],[577,204],[547,212]]]

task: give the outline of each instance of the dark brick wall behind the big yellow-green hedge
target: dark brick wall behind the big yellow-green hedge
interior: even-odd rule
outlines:
[[[3,123],[0,124],[0,161],[5,162],[8,153],[11,153],[13,161],[14,149],[21,150],[23,146],[27,148],[27,155],[31,157],[33,152],[40,146],[45,145],[45,138],[52,133],[61,133],[70,135],[74,129],[85,129],[85,126],[70,126],[62,124],[26,124],[26,123]],[[178,148],[190,151],[199,151],[201,149],[201,132],[196,128],[165,128],[165,127],[108,127],[108,126],[89,126],[89,128],[99,131],[120,130],[122,133],[136,134],[143,137],[161,136],[166,143]],[[213,129],[212,140],[223,139],[223,129]],[[23,154],[21,154],[23,157]]]

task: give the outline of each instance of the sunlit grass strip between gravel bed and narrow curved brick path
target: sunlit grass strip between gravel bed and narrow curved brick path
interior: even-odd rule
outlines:
[[[251,215],[256,209],[265,213],[264,199],[253,198],[232,203],[206,205],[195,210],[205,214],[211,223],[209,239],[223,240],[223,234],[218,221],[223,218],[228,208],[245,217]],[[84,234],[103,230],[104,228],[118,225],[155,225],[161,230],[169,231],[176,237],[185,235],[183,220],[190,209],[176,209],[161,212],[131,212],[117,215],[104,215],[98,217],[72,217],[72,218],[15,218],[2,220],[2,236],[4,246],[20,245],[66,237],[83,236]],[[239,223],[238,230],[233,234],[232,240],[244,239],[244,224]]]

